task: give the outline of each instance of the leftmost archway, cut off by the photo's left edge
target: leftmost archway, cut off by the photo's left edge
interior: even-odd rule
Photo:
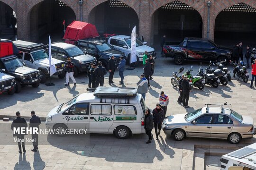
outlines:
[[[16,34],[16,13],[9,5],[0,1],[0,37],[15,40]]]

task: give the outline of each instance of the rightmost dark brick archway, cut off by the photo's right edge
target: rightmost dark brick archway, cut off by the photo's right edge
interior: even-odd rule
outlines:
[[[256,9],[238,3],[219,12],[215,19],[214,41],[226,46],[232,46],[242,41],[245,46],[256,47]]]

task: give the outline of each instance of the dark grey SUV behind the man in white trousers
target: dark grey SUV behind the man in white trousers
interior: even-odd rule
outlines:
[[[74,76],[77,76],[80,72],[86,72],[91,63],[96,64],[96,58],[84,54],[83,51],[75,45],[55,42],[52,43],[52,57],[62,61],[66,61],[67,58],[71,58],[74,63]]]

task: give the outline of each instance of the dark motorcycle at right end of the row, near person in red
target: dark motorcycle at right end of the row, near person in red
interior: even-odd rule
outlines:
[[[248,71],[247,71],[247,68],[246,68],[246,66],[244,65],[244,62],[243,61],[240,61],[240,63],[239,64],[237,64],[237,63],[235,63],[235,62],[232,62],[232,64],[233,64],[233,73],[234,73],[234,77],[236,76],[236,74],[237,74],[237,76],[238,76],[238,80],[239,80],[239,78],[242,78],[243,79],[243,81],[245,82],[245,83],[247,83],[248,82],[248,78],[249,78],[249,73],[248,73]],[[240,66],[243,66],[242,67],[242,69],[240,68]]]

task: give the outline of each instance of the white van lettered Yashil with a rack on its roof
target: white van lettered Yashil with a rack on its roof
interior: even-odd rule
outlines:
[[[124,139],[145,133],[145,111],[146,104],[136,88],[97,87],[94,93],[82,93],[51,110],[46,128],[82,128],[86,133],[113,133]]]

